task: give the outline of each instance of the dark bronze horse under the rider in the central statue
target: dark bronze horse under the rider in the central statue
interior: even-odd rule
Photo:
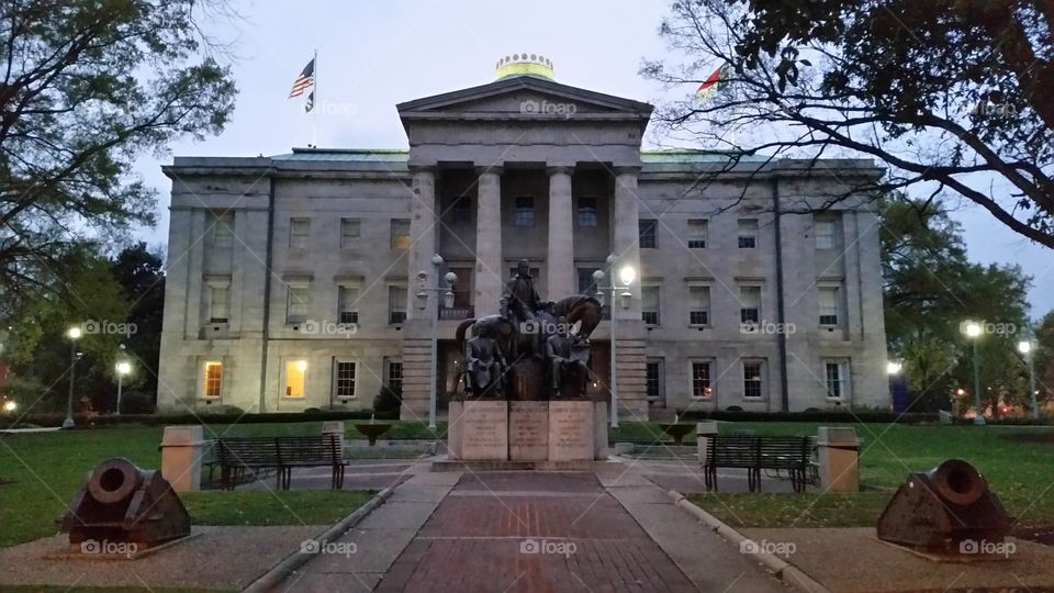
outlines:
[[[593,296],[575,294],[548,303],[535,312],[535,327],[540,336],[520,333],[520,328],[503,315],[486,315],[461,322],[456,339],[462,353],[469,328],[473,336],[485,334],[496,339],[511,366],[512,381],[506,381],[511,392],[506,395],[514,400],[534,399],[546,391],[545,344],[553,333],[557,320],[564,317],[569,324],[578,324],[578,335],[587,339],[599,325],[602,316],[603,305],[599,301]],[[583,353],[583,356],[588,359],[587,351]],[[468,380],[466,383],[468,384]]]

